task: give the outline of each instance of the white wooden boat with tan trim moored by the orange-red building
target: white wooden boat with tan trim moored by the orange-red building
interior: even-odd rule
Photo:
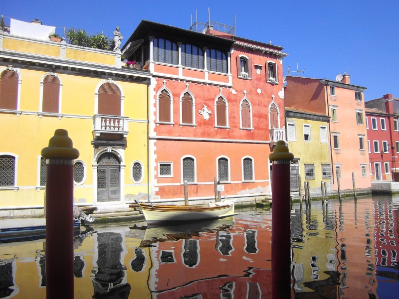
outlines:
[[[142,202],[138,204],[148,224],[218,219],[236,215],[233,200],[200,205],[158,205]]]

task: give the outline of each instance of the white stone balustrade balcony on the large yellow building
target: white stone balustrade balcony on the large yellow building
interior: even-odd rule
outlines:
[[[99,115],[93,116],[93,138],[99,137],[106,138],[109,136],[111,139],[126,138],[129,133],[129,118],[123,116],[112,115]]]

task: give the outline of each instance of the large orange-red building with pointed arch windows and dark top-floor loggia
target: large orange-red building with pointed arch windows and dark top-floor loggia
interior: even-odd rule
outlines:
[[[215,29],[218,30],[215,30]],[[228,32],[228,33],[226,33]],[[191,30],[143,20],[122,48],[149,69],[152,202],[269,195],[270,154],[285,140],[279,46],[236,37],[235,28]]]

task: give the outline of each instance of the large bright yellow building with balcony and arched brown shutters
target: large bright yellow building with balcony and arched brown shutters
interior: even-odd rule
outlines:
[[[0,31],[0,217],[41,215],[45,160],[66,129],[74,203],[125,207],[149,193],[147,70],[121,66],[120,51]]]

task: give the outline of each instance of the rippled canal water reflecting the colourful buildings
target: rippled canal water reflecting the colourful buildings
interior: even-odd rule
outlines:
[[[75,298],[271,298],[271,210],[216,221],[82,227]],[[62,232],[59,234],[62,238]],[[291,298],[399,298],[399,197],[291,209]],[[45,240],[0,244],[0,298],[45,298]]]

